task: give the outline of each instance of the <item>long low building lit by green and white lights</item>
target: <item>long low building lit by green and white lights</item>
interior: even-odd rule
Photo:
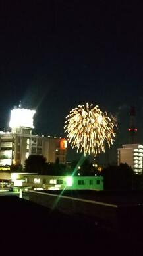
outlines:
[[[15,190],[103,190],[103,176],[51,176],[31,173],[0,173],[0,181]]]

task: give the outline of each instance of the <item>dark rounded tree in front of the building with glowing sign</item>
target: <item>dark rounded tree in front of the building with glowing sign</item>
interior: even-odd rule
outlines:
[[[46,158],[43,157],[43,155],[30,155],[28,159],[25,160],[25,171],[43,174],[45,162]]]

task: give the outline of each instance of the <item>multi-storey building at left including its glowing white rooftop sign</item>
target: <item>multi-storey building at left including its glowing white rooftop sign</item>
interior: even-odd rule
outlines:
[[[57,137],[32,134],[36,111],[14,107],[11,110],[9,127],[11,132],[0,132],[0,166],[24,165],[29,155],[43,155],[47,162],[65,164],[67,141]]]

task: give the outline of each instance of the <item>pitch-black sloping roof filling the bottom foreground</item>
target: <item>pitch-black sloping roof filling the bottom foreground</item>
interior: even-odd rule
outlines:
[[[142,237],[134,236],[132,241],[82,217],[51,212],[16,196],[1,196],[0,206],[1,251],[5,255],[124,255],[143,249]]]

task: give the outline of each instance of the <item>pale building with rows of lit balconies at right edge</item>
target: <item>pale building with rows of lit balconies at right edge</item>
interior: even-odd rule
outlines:
[[[128,164],[136,174],[142,174],[143,145],[126,144],[118,149],[118,165]]]

